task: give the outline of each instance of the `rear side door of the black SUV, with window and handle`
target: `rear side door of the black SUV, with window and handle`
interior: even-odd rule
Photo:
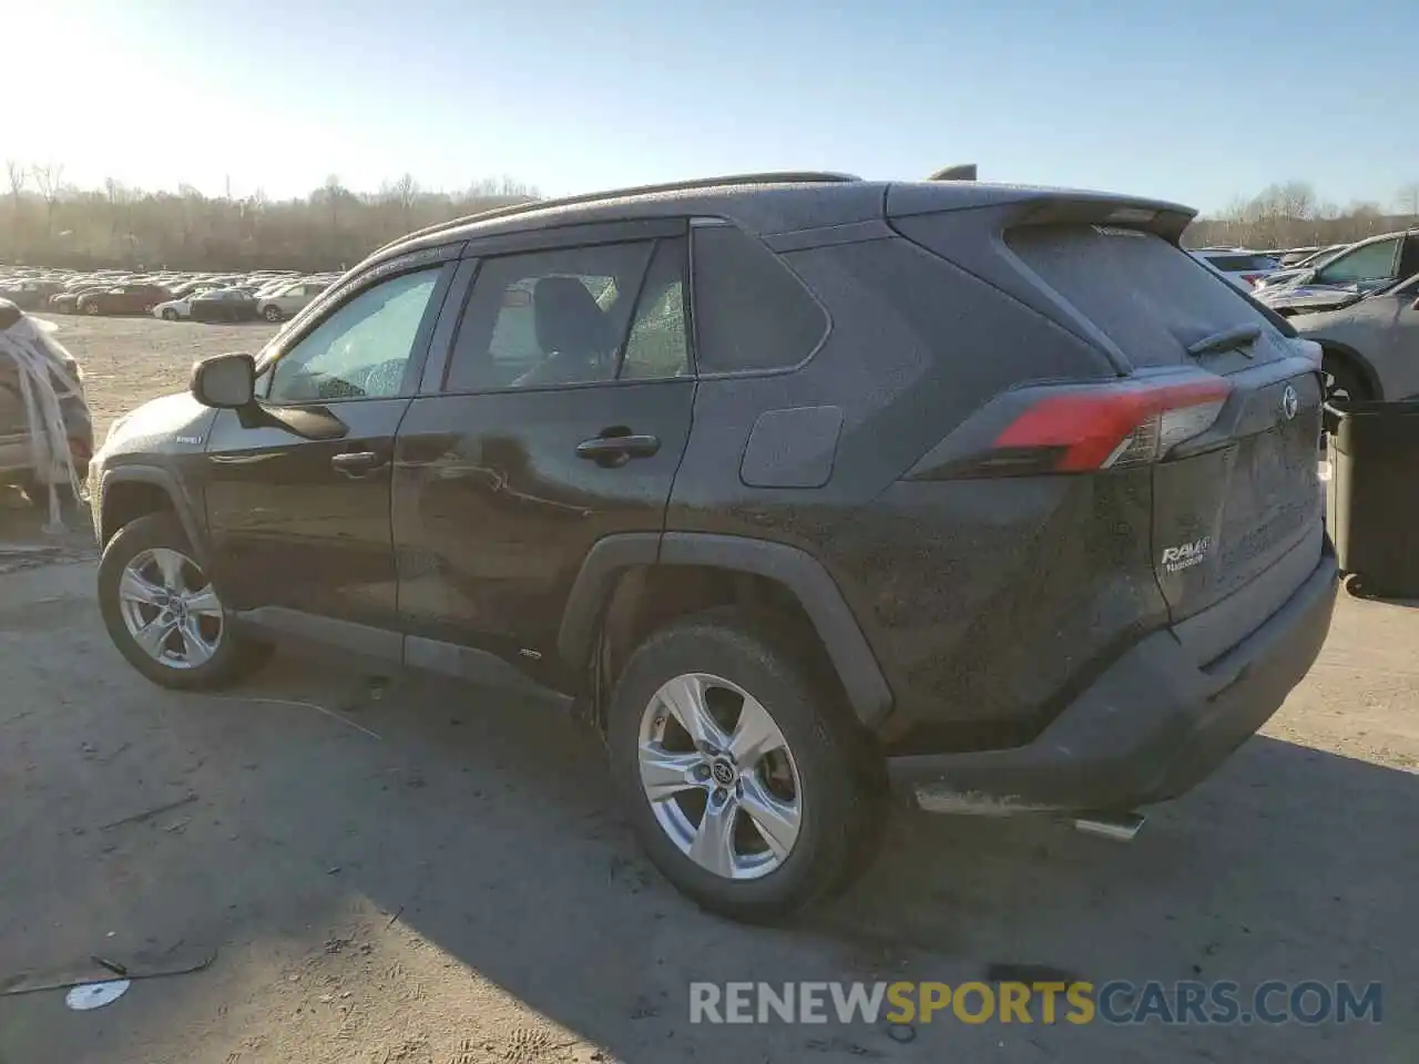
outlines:
[[[658,535],[690,431],[684,221],[485,244],[446,365],[399,431],[394,545],[410,664],[558,681],[592,546]],[[450,299],[453,306],[454,299]]]

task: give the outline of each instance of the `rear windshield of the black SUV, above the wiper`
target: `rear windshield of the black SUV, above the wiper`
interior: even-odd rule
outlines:
[[[1111,226],[1027,226],[1006,244],[1137,367],[1188,362],[1188,345],[1266,314],[1162,237]]]

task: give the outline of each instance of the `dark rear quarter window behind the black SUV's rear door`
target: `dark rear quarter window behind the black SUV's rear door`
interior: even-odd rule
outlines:
[[[734,226],[694,230],[695,358],[701,373],[796,366],[827,316],[797,277]]]

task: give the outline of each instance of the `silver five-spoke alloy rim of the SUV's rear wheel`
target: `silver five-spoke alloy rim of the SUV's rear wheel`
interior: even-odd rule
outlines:
[[[670,680],[644,709],[639,758],[656,821],[705,871],[756,880],[793,851],[803,821],[797,765],[744,688],[704,672]]]

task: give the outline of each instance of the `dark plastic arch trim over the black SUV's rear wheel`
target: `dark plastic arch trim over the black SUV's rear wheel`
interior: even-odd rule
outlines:
[[[812,555],[786,543],[707,532],[624,533],[597,541],[568,597],[558,633],[558,654],[585,674],[607,609],[631,572],[673,570],[753,577],[792,599],[822,644],[853,712],[867,726],[893,708],[891,688],[837,583]]]

